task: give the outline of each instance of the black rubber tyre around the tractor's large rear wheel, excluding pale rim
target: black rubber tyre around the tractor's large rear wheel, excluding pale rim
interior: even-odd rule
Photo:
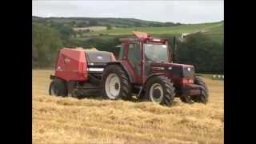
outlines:
[[[106,78],[110,74],[116,74],[119,78],[120,81],[120,91],[118,93],[118,96],[116,98],[109,98],[106,94]],[[106,69],[103,72],[102,75],[102,95],[103,98],[108,98],[108,99],[120,99],[122,98],[123,100],[130,100],[132,99],[132,86],[130,83],[130,79],[128,78],[128,75],[126,74],[126,71],[122,69],[121,66],[118,65],[110,65],[107,66]]]

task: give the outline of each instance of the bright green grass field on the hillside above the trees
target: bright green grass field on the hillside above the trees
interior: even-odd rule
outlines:
[[[147,32],[154,37],[162,35],[175,35],[180,37],[182,33],[195,33],[201,31],[212,38],[215,42],[222,42],[224,38],[224,22],[212,22],[202,24],[190,24],[181,26],[168,27],[130,27],[130,28],[115,28],[112,30],[94,30],[89,33],[83,33],[82,37],[74,39],[86,41],[89,38],[109,38],[122,35],[124,38],[132,35],[134,30]]]

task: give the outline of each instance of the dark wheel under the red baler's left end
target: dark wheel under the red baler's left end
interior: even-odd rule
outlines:
[[[49,94],[55,96],[67,96],[66,83],[61,79],[54,79],[50,82]]]

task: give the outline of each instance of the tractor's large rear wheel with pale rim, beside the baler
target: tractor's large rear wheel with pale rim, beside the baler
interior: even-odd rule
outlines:
[[[102,76],[102,88],[104,98],[128,100],[132,96],[130,80],[118,65],[106,67]]]

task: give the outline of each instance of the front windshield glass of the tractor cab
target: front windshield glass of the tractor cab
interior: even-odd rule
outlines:
[[[144,44],[146,61],[168,62],[168,51],[166,45]]]

